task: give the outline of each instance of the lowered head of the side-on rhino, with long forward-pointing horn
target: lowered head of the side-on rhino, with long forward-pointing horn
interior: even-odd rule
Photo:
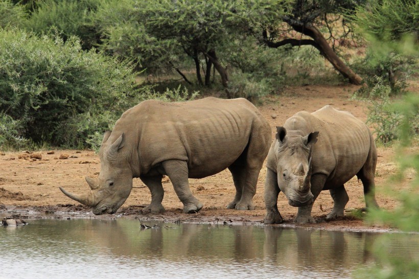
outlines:
[[[108,143],[111,131],[103,136],[99,156],[101,171],[98,179],[86,176],[90,191],[85,194],[73,194],[60,187],[61,192],[81,204],[93,208],[95,215],[113,214],[125,202],[131,193],[132,172],[124,152],[124,133],[113,143]]]

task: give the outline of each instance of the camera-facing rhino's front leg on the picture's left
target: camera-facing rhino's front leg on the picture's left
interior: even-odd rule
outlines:
[[[278,211],[278,195],[281,190],[278,187],[277,174],[271,169],[266,171],[265,179],[265,205],[266,216],[263,222],[265,224],[281,224],[282,216]]]

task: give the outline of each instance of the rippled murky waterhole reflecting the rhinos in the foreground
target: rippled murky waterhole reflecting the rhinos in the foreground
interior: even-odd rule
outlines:
[[[0,227],[0,277],[344,278],[374,263],[381,235],[301,228],[29,220]],[[152,226],[156,222],[147,222]],[[419,238],[394,242],[419,250]]]

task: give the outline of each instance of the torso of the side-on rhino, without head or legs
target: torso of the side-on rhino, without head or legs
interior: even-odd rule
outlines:
[[[142,173],[159,162],[178,159],[188,161],[193,178],[218,173],[231,165],[247,146],[252,125],[266,122],[245,99],[205,98],[183,103],[150,100],[124,114],[121,126],[137,143]],[[269,124],[265,124],[269,131]]]

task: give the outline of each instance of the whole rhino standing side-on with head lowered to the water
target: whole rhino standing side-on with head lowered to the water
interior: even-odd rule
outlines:
[[[98,179],[86,177],[91,191],[68,197],[113,214],[128,198],[132,178],[151,192],[146,212],[162,213],[162,175],[169,176],[184,213],[198,212],[202,203],[188,178],[214,175],[228,168],[236,196],[227,208],[253,210],[252,198],[269,151],[271,130],[259,110],[245,99],[205,98],[183,103],[144,101],[124,112],[100,149]]]

